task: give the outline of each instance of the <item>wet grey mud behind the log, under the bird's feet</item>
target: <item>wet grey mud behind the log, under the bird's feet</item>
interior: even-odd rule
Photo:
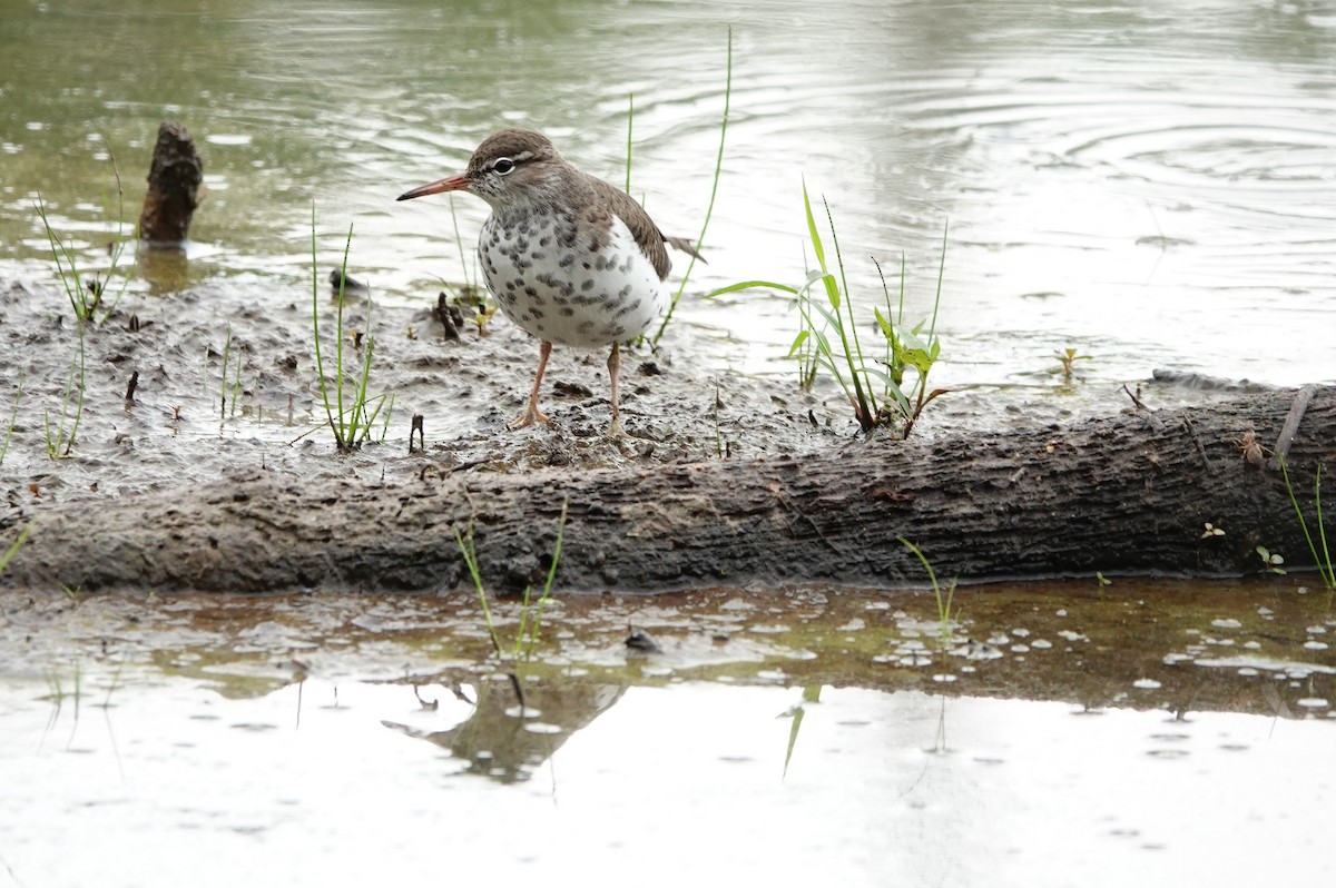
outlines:
[[[146,268],[159,279],[170,258],[148,254]],[[803,393],[787,373],[732,373],[728,338],[684,323],[669,328],[657,351],[627,353],[625,438],[605,434],[605,355],[574,350],[557,350],[548,370],[540,403],[552,422],[510,431],[506,423],[532,385],[532,338],[500,315],[481,331],[465,320],[462,335],[450,338],[434,298],[428,308],[350,292],[345,365],[354,366],[374,341],[369,391],[393,402],[386,401],[371,441],[338,453],[311,320],[314,306],[326,391],[337,403],[338,300],[327,282],[314,295],[301,279],[214,278],[160,291],[136,283],[119,300],[114,290],[107,287],[96,323],[84,324],[80,337],[69,299],[55,283],[0,282],[0,379],[8,393],[0,398],[0,430],[12,425],[0,462],[7,541],[52,509],[68,509],[59,522],[77,522],[91,514],[84,505],[95,510],[99,502],[132,497],[190,502],[211,485],[216,493],[218,483],[255,473],[309,490],[339,479],[406,481],[460,470],[576,477],[595,469],[830,454],[858,441],[838,387],[823,381]],[[355,385],[347,373],[346,399]],[[919,434],[931,434],[934,422],[1031,423],[1066,411],[1043,397],[1025,403],[961,393],[950,401]],[[422,417],[425,447],[410,453],[414,415]],[[142,545],[168,531],[118,527]]]

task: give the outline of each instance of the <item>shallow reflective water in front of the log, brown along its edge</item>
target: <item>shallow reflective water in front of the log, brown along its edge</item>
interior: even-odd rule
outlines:
[[[1140,592],[8,594],[0,884],[1329,877],[1329,598]]]

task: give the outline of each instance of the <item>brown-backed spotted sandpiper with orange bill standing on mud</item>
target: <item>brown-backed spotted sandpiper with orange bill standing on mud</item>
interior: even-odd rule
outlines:
[[[578,349],[611,345],[611,434],[621,434],[617,373],[621,343],[635,339],[668,303],[665,243],[700,258],[683,238],[669,238],[627,192],[580,172],[546,136],[501,130],[473,152],[464,172],[399,195],[410,200],[468,191],[492,215],[478,238],[482,275],[501,311],[541,342],[529,403],[512,423],[548,418],[538,390],[553,343]]]

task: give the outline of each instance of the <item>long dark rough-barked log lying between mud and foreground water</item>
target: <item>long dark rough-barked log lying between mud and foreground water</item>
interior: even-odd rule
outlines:
[[[1126,411],[1006,435],[859,441],[839,451],[587,471],[442,474],[307,483],[254,473],[179,497],[39,513],[7,585],[84,590],[433,592],[466,586],[454,531],[473,527],[496,590],[541,585],[562,502],[556,588],[923,585],[939,577],[1256,572],[1259,543],[1309,562],[1271,449],[1293,391],[1209,407]],[[1317,389],[1289,443],[1313,525],[1313,473],[1336,474],[1336,390]],[[1333,486],[1328,486],[1331,490]],[[1332,501],[1328,502],[1328,514]],[[1225,535],[1204,535],[1210,522]]]

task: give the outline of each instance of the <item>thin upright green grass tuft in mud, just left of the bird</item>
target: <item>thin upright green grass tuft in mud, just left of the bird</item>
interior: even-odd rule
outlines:
[[[321,401],[325,403],[325,415],[329,418],[330,430],[334,433],[334,442],[343,453],[357,450],[363,442],[371,438],[371,431],[377,421],[382,422],[381,439],[389,429],[390,414],[394,411],[393,395],[370,395],[369,385],[371,379],[371,357],[375,351],[375,337],[370,334],[371,326],[371,298],[366,299],[366,326],[367,332],[358,337],[354,351],[361,354],[361,363],[354,365],[354,374],[345,373],[345,339],[349,331],[343,327],[343,287],[347,280],[347,256],[353,248],[353,226],[347,228],[347,240],[343,244],[342,274],[338,282],[338,307],[335,315],[335,347],[334,347],[334,391],[325,374],[325,355],[321,350],[321,279],[317,267],[315,247],[315,206],[311,204],[311,327],[315,334],[315,373],[321,381]],[[226,367],[224,367],[226,386]],[[381,411],[385,415],[381,417]]]

